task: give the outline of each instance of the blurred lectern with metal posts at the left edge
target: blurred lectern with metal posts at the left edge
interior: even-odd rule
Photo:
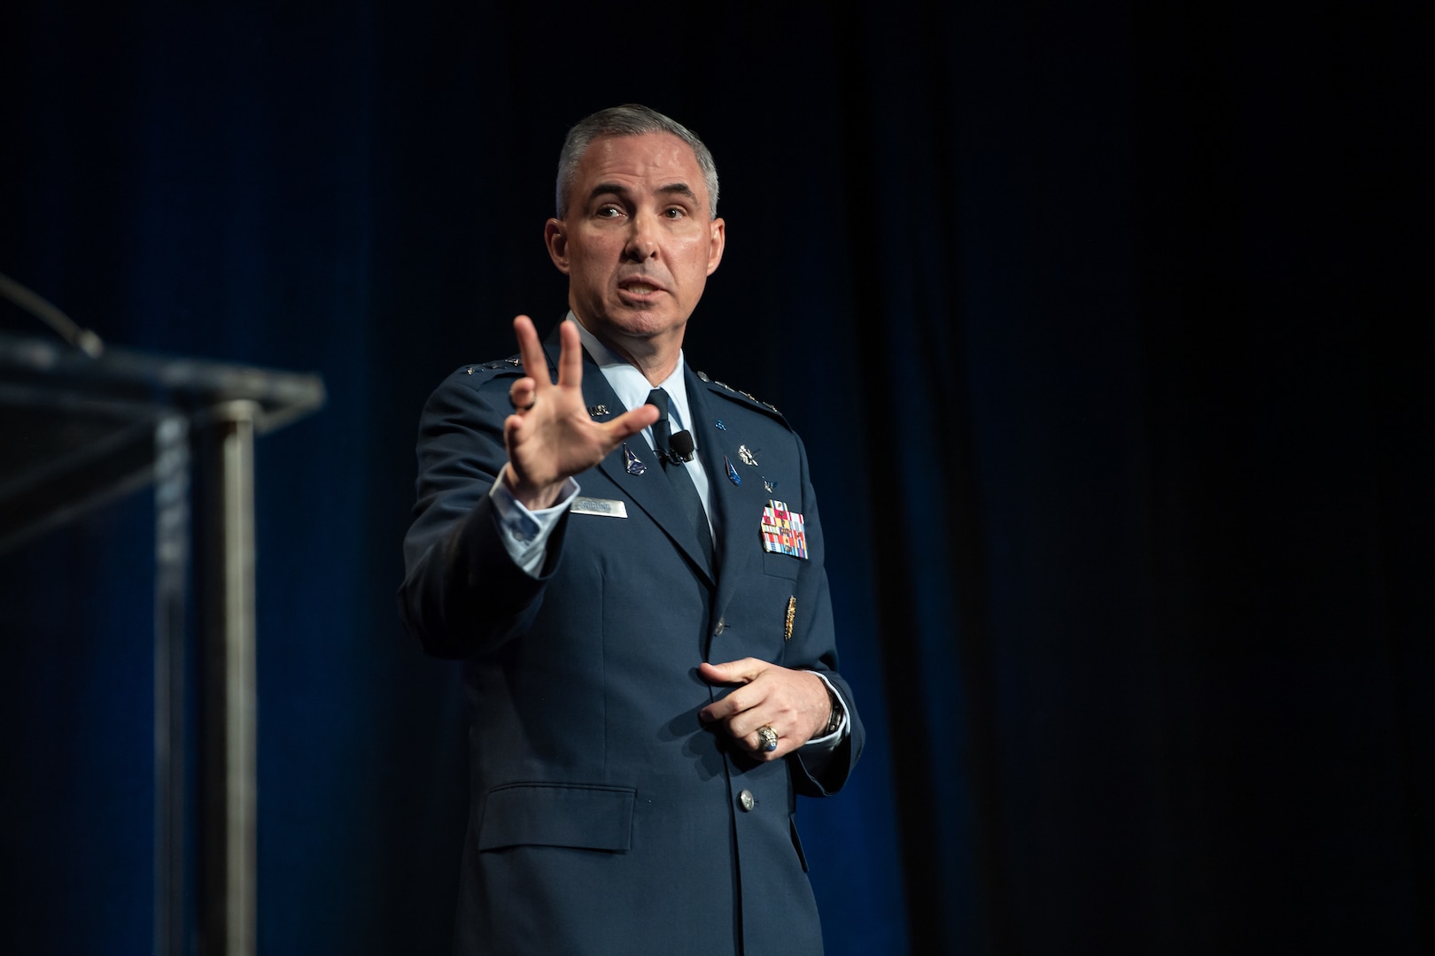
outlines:
[[[319,376],[0,333],[0,550],[155,489],[155,952],[255,950],[254,439],[324,401]],[[191,560],[191,555],[194,559]],[[202,659],[199,873],[185,873],[185,593]]]

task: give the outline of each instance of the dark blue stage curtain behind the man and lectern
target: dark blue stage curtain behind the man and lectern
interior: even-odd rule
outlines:
[[[561,315],[557,149],[630,100],[723,176],[687,354],[822,496],[871,734],[799,813],[828,950],[1428,952],[1412,24],[838,6],[0,11],[0,271],[329,388],[258,447],[261,952],[446,950],[465,714],[395,616],[413,430]],[[141,493],[0,555],[0,950],[149,949],[152,552]]]

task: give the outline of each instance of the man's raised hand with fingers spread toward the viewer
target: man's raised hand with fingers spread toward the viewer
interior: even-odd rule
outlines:
[[[584,472],[624,439],[657,420],[657,408],[641,406],[611,421],[594,421],[583,400],[583,345],[578,330],[564,322],[558,330],[561,354],[558,381],[548,380],[544,357],[532,320],[514,320],[518,354],[525,377],[508,390],[514,414],[504,420],[504,444],[508,467],[504,480],[525,507],[537,510],[558,500],[567,477]]]

